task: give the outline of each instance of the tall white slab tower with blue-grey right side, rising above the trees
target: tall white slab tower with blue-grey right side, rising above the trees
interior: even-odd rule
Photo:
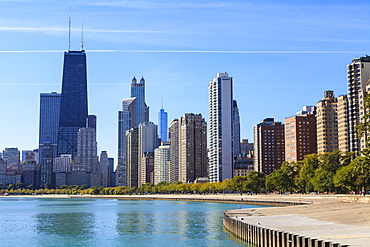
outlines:
[[[233,177],[233,79],[218,73],[209,91],[209,180]]]

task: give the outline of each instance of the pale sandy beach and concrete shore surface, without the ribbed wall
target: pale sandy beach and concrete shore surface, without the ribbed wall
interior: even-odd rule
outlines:
[[[369,246],[368,243],[370,243],[369,197],[298,194],[25,195],[7,197],[188,200],[271,205],[277,207],[228,210],[225,212],[225,217],[241,221],[242,223],[247,222],[250,225],[263,226],[263,228],[269,230],[289,232],[293,235],[308,236],[332,243],[342,243],[342,246]],[[359,202],[359,200],[366,200],[367,203],[365,201]],[[238,207],[236,206],[236,208]],[[225,226],[233,232],[233,229],[230,229],[227,225]],[[233,233],[239,235],[238,232]],[[265,246],[265,243],[260,246]]]

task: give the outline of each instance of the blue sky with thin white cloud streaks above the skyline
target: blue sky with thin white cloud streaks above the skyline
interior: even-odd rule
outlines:
[[[71,12],[69,11],[71,7]],[[370,54],[368,1],[0,0],[0,150],[34,149],[39,95],[61,90],[63,51],[84,48],[99,152],[117,154],[117,112],[133,76],[146,79],[150,119],[208,119],[208,83],[234,78],[242,138],[283,121],[325,90],[346,94],[346,65]]]

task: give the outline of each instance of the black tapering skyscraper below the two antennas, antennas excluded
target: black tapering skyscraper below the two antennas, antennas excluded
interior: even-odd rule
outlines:
[[[58,155],[77,154],[77,133],[86,127],[87,119],[86,54],[64,53],[62,97],[60,102]]]

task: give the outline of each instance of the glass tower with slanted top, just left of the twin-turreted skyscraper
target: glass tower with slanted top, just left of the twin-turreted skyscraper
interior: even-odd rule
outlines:
[[[118,112],[118,165],[117,186],[126,186],[126,130],[136,126],[136,98],[122,100],[122,111]]]

